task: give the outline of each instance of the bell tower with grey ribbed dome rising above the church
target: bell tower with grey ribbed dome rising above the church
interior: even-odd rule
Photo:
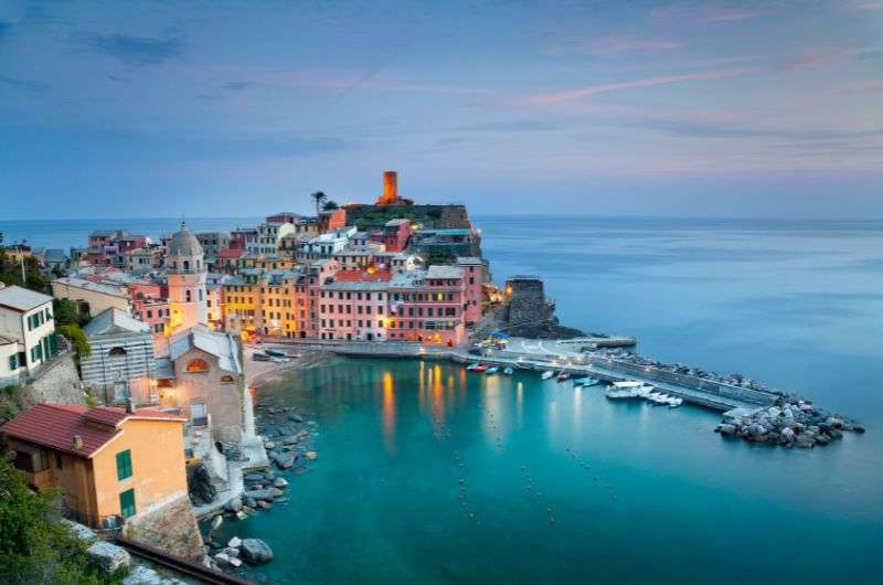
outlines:
[[[174,334],[196,325],[208,325],[202,246],[184,222],[181,222],[181,230],[169,242],[166,276],[171,309],[167,334]]]

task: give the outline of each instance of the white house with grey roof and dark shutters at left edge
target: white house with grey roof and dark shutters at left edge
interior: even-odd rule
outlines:
[[[19,286],[0,288],[0,380],[18,382],[57,351],[52,297]]]

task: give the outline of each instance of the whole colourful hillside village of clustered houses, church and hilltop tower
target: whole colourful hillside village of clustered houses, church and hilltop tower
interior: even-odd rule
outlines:
[[[208,556],[198,526],[272,506],[288,483],[270,468],[308,444],[305,427],[268,457],[275,444],[256,432],[255,385],[291,359],[260,344],[456,348],[500,301],[465,208],[414,204],[394,171],[372,205],[311,202],[315,216],[231,233],[184,221],[158,242],[108,230],[70,252],[4,248],[22,281],[25,265],[47,275],[51,295],[0,288],[0,385],[22,389],[0,432],[28,483],[58,488],[93,538],[209,571],[268,561],[249,540]],[[108,572],[129,562],[103,539],[89,550]]]

